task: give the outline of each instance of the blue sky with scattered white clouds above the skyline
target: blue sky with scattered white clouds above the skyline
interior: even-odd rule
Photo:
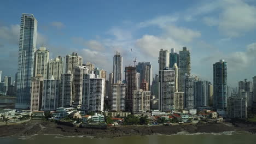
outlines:
[[[0,70],[14,76],[22,13],[38,20],[37,47],[50,58],[78,52],[83,61],[112,71],[115,51],[124,66],[153,64],[160,49],[187,46],[192,73],[212,81],[212,64],[228,62],[228,83],[236,87],[256,75],[256,2],[223,1],[1,1]],[[133,50],[131,52],[131,49]]]

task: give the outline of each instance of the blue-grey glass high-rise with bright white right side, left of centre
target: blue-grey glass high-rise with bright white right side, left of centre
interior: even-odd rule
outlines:
[[[102,112],[104,109],[104,79],[90,79],[88,111]]]

